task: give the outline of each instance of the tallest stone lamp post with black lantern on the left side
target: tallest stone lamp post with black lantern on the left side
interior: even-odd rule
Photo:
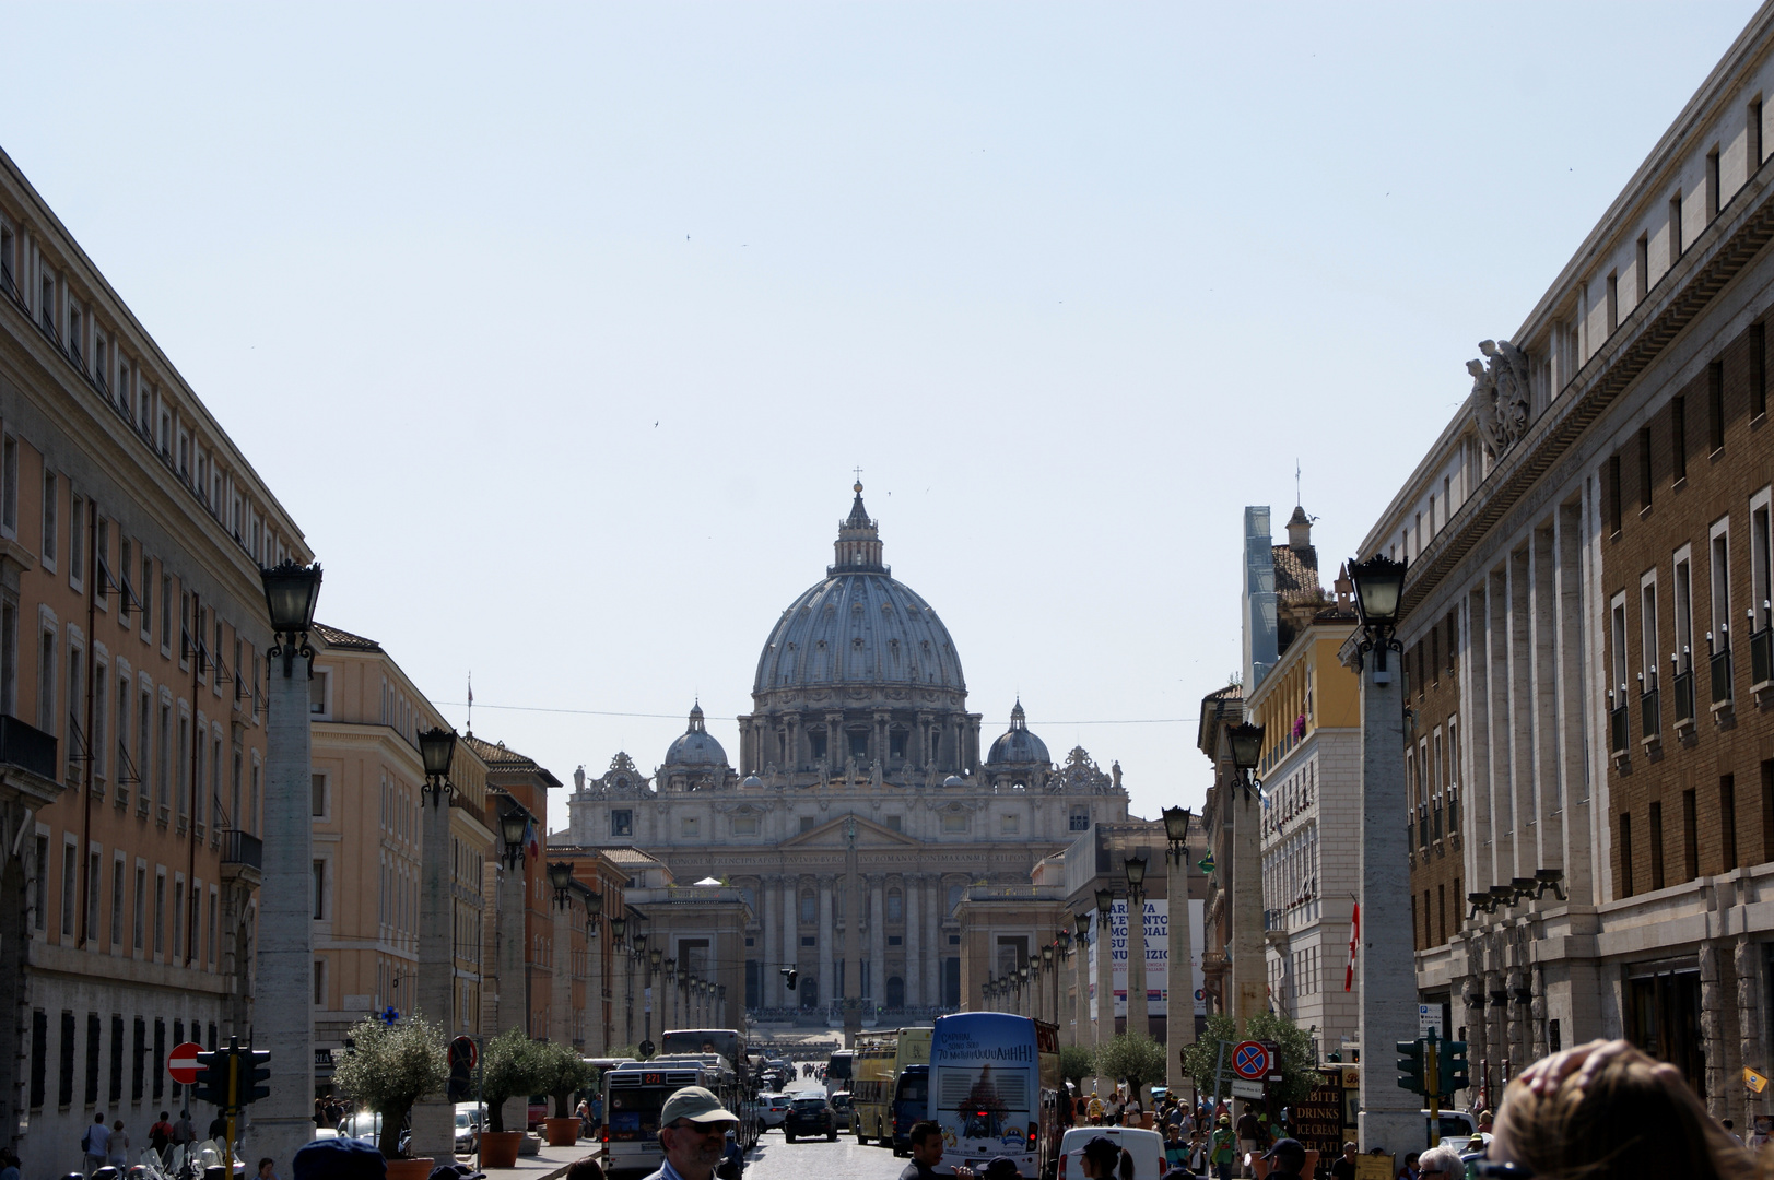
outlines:
[[[312,756],[309,735],[309,678],[314,649],[309,628],[321,591],[319,564],[286,561],[261,570],[264,605],[271,619],[273,662],[266,715],[268,770],[264,784],[264,864],[259,889],[257,1045],[282,1061],[286,1077],[271,1097],[254,1107],[252,1150],[289,1159],[314,1136],[314,916],[309,910],[314,873]],[[296,657],[307,660],[296,676]],[[275,669],[275,664],[273,664]]]

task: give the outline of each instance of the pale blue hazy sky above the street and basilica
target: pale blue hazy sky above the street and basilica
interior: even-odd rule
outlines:
[[[736,758],[860,467],[983,742],[1155,816],[1244,506],[1329,580],[1753,12],[21,5],[0,147],[454,724]]]

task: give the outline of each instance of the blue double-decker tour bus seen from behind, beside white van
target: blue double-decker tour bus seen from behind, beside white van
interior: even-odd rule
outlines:
[[[930,1038],[930,1118],[942,1127],[938,1171],[985,1169],[995,1155],[1024,1176],[1059,1157],[1059,1026],[1006,1011],[938,1017]]]

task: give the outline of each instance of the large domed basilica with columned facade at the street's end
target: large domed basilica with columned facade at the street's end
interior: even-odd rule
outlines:
[[[575,845],[740,889],[754,1013],[962,1006],[967,885],[1029,885],[1043,857],[1126,820],[1119,767],[1082,747],[1056,765],[1020,701],[981,758],[954,641],[882,561],[860,483],[834,562],[765,641],[738,726],[738,767],[695,708],[651,775],[628,754],[575,774],[569,816]]]

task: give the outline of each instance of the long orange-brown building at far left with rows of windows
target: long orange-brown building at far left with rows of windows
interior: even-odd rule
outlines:
[[[0,339],[0,1139],[67,1171],[250,1031],[259,566],[310,554],[5,156]]]

